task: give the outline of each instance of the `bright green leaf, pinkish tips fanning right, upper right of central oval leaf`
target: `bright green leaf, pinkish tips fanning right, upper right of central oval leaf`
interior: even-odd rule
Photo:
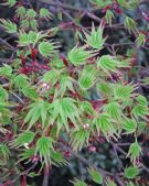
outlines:
[[[102,68],[107,75],[110,76],[111,72],[119,73],[118,68],[121,67],[121,63],[115,59],[114,56],[103,55],[97,61],[97,67]]]

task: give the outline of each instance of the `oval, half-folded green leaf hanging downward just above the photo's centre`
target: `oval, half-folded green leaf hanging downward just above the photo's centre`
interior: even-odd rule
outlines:
[[[84,90],[92,88],[96,79],[96,68],[92,65],[85,66],[79,75],[78,84]]]

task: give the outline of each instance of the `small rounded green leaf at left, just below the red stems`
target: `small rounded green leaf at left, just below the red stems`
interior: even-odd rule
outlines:
[[[15,85],[17,88],[19,88],[20,90],[24,87],[28,87],[29,86],[29,77],[23,75],[23,74],[20,74],[18,76],[14,77],[13,79],[13,84]]]

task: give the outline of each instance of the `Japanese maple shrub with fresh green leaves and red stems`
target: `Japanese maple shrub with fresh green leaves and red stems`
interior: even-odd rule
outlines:
[[[148,155],[149,109],[142,87],[149,79],[139,56],[140,48],[149,51],[149,17],[142,9],[147,1],[91,0],[88,8],[71,1],[36,3],[1,2],[3,10],[13,10],[13,18],[0,19],[6,56],[0,58],[1,186],[26,186],[26,176],[40,174],[47,186],[52,167],[67,165],[72,156],[88,166],[89,175],[71,180],[74,186],[87,186],[88,180],[147,186],[149,168],[142,157]],[[137,20],[131,11],[139,13]],[[82,24],[84,17],[91,26]],[[126,39],[115,43],[113,29],[115,35],[123,30]],[[72,48],[60,42],[58,34],[67,30],[74,35]],[[117,169],[95,166],[79,153],[99,153],[96,146],[104,145],[113,151]]]

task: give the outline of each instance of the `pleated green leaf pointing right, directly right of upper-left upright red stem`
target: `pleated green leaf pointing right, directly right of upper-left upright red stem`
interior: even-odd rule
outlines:
[[[57,47],[58,46],[55,46],[55,43],[42,42],[39,44],[39,52],[44,57],[49,57],[49,56],[52,56],[53,53],[55,53],[55,48]]]

